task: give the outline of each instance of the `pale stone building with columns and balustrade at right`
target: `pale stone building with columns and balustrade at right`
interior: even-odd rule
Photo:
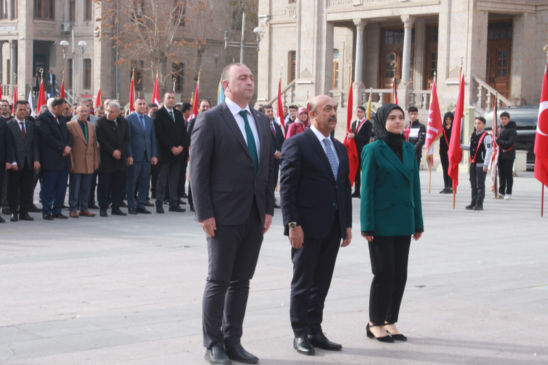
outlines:
[[[456,101],[462,58],[466,103],[476,114],[502,105],[538,104],[548,44],[545,0],[259,0],[265,33],[258,100],[331,93],[345,107],[349,66],[355,101],[393,101],[427,109],[437,73],[442,108]],[[295,81],[295,84],[291,83]],[[424,108],[425,107],[425,108]],[[340,108],[341,109],[341,108]],[[419,108],[421,109],[421,108]]]

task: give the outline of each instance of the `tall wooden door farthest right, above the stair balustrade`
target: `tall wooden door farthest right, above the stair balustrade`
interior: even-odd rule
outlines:
[[[506,98],[510,97],[512,33],[511,19],[489,22],[486,81]]]

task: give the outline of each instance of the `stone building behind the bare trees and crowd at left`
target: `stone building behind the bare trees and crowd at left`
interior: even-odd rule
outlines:
[[[188,1],[188,6],[192,5]],[[123,49],[119,58],[125,58],[116,70],[116,49],[114,42],[101,35],[101,25],[97,18],[104,10],[101,8],[106,1],[94,0],[0,0],[0,73],[3,98],[12,100],[12,85],[14,74],[16,77],[18,99],[27,99],[29,88],[33,86],[33,76],[40,68],[46,77],[49,69],[53,70],[60,90],[62,81],[62,67],[65,68],[66,92],[73,90],[72,75],[75,75],[75,97],[95,97],[99,86],[103,99],[119,98],[124,105],[129,102],[129,83],[132,75],[132,64],[137,65],[136,95],[144,96],[150,101],[153,91],[153,71],[148,60],[128,60]],[[204,37],[206,40],[205,53],[201,58],[200,98],[210,99],[216,104],[217,88],[223,67],[232,62],[232,58],[239,60],[240,51],[236,48],[225,49],[224,34],[219,29],[227,29],[226,12],[221,18],[214,18],[214,27]],[[121,19],[123,25],[127,19]],[[249,24],[249,21],[248,21]],[[253,29],[256,25],[249,25]],[[98,29],[99,28],[99,29]],[[187,27],[177,31],[177,40],[188,38]],[[238,31],[239,32],[239,31]],[[240,38],[238,32],[232,34],[231,40]],[[74,33],[74,42],[72,39]],[[69,42],[66,53],[60,45],[62,40]],[[82,53],[78,47],[81,41],[86,42]],[[252,32],[246,33],[246,41],[256,40]],[[75,67],[73,68],[73,43]],[[190,44],[190,43],[189,43]],[[190,101],[195,91],[197,51],[195,47],[179,47],[176,50],[177,68],[176,99]],[[249,64],[253,72],[257,72],[257,49],[245,49],[245,63]],[[142,65],[142,66],[140,66]],[[142,70],[139,68],[142,67]],[[172,65],[164,64],[164,75],[171,73]],[[166,88],[172,88],[172,75],[166,81]],[[46,86],[45,81],[45,86]],[[160,90],[162,93],[162,90]],[[71,101],[71,97],[67,97]]]

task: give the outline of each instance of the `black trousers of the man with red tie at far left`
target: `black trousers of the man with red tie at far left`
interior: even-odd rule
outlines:
[[[26,162],[18,168],[18,171],[8,171],[8,205],[12,214],[29,212],[29,201],[34,192],[34,170]],[[21,207],[18,207],[18,202],[21,202]]]

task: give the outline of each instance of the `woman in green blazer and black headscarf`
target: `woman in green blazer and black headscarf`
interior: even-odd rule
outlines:
[[[411,237],[424,231],[421,181],[415,149],[403,142],[403,110],[385,104],[373,120],[377,140],[362,151],[362,236],[369,242],[373,281],[369,294],[369,338],[407,340],[398,331],[406,288]]]

